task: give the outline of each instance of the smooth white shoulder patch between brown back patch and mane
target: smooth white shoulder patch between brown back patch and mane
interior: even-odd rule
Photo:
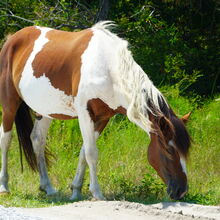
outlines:
[[[87,105],[88,100],[99,98],[110,108],[117,109],[123,104],[118,101],[119,96],[114,93],[112,78],[109,75],[112,51],[107,50],[106,44],[109,42],[100,34],[102,33],[93,30],[88,47],[81,56],[81,77],[75,101],[80,100]]]

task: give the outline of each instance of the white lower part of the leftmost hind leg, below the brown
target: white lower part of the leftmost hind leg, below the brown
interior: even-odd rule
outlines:
[[[11,131],[4,132],[3,125],[0,127],[0,148],[2,152],[2,166],[0,172],[0,194],[8,193],[8,149],[11,142]]]

